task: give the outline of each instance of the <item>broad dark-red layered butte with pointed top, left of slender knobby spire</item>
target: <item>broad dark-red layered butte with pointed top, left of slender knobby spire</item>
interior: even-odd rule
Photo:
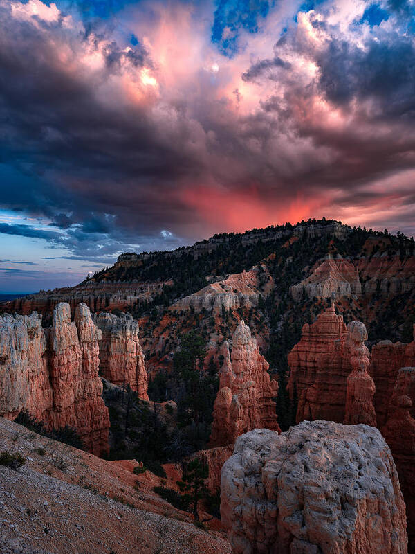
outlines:
[[[302,328],[302,338],[288,354],[288,392],[298,396],[297,422],[343,422],[347,377],[351,371],[349,331],[334,304],[314,323]]]

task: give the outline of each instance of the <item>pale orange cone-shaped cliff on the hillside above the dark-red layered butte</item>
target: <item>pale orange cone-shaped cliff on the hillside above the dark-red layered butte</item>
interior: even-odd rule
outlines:
[[[304,298],[342,298],[361,292],[358,269],[343,258],[324,260],[308,278],[290,287],[297,302]]]

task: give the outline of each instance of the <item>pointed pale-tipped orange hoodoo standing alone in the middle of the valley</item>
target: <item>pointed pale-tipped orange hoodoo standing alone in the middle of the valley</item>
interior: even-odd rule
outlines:
[[[243,320],[232,337],[232,354],[225,341],[223,357],[219,392],[214,402],[211,445],[232,444],[239,435],[256,427],[279,431],[273,401],[278,384],[270,379],[269,364]]]

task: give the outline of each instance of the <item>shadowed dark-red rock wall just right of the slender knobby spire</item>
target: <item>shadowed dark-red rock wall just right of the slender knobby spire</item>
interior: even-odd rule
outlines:
[[[391,341],[380,341],[372,348],[368,371],[376,385],[374,406],[379,427],[385,425],[387,421],[391,393],[394,391],[400,368],[412,366],[415,366],[415,325],[412,343],[393,344]],[[415,383],[407,388],[405,394],[412,400],[411,414],[415,417]]]

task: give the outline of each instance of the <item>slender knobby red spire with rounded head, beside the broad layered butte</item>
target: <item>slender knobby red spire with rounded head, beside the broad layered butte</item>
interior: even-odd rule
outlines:
[[[370,364],[369,350],[365,345],[367,331],[365,325],[360,321],[352,321],[347,328],[353,371],[347,377],[344,423],[351,425],[367,423],[367,425],[376,427],[376,413],[373,404],[375,384],[374,379],[367,373]]]

